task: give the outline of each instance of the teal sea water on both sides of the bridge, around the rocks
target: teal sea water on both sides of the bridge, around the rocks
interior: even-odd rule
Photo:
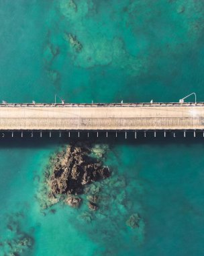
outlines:
[[[195,91],[202,101],[203,20],[201,0],[0,0],[1,99],[178,102]],[[44,216],[36,199],[66,137],[1,139],[0,255],[25,233],[34,246],[20,255],[203,255],[203,137],[176,135],[95,139],[125,187],[107,185],[106,211],[91,223],[79,217],[85,204]],[[135,212],[140,230],[125,224]]]

